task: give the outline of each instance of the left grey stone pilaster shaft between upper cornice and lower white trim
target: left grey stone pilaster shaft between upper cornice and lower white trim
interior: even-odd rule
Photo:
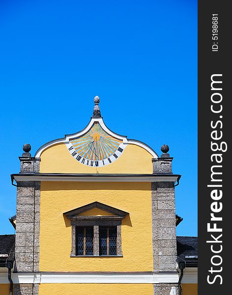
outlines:
[[[17,271],[39,271],[39,181],[19,181],[16,201],[15,261]]]

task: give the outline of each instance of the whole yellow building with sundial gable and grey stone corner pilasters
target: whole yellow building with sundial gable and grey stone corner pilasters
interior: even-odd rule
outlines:
[[[176,252],[180,175],[172,172],[168,146],[158,157],[114,133],[97,96],[94,102],[84,130],[45,144],[34,157],[24,146],[21,171],[11,176],[15,263],[0,276],[0,295],[12,286],[14,295],[197,294],[193,257],[186,258],[188,279],[178,270],[186,260]],[[181,255],[189,251],[181,237],[177,242]]]

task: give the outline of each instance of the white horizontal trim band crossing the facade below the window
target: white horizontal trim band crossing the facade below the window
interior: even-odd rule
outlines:
[[[177,283],[178,273],[12,273],[12,280],[18,284],[31,283],[99,283],[99,284],[158,284]],[[0,274],[0,283],[7,284],[7,273]]]

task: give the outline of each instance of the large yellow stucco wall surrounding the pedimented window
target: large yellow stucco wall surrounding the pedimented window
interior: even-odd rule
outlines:
[[[123,258],[70,258],[63,212],[95,201],[130,213],[122,220]],[[150,183],[41,181],[40,212],[40,271],[152,271]]]

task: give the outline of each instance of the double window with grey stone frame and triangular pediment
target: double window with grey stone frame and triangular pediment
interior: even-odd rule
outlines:
[[[111,214],[82,214],[93,208]],[[94,202],[64,214],[70,219],[72,227],[71,257],[122,256],[121,221],[127,212]]]

